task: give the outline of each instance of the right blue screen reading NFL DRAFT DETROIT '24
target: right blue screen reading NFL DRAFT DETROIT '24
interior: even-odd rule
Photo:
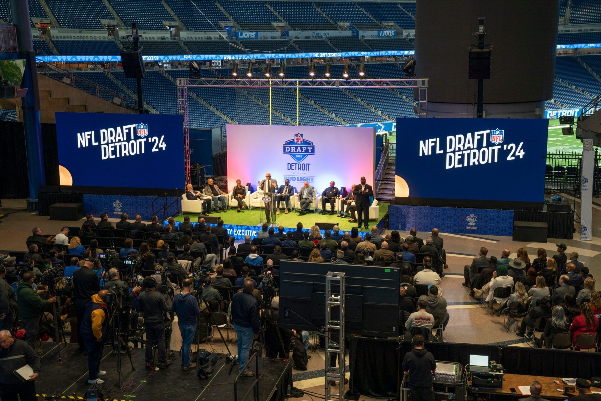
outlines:
[[[542,204],[547,132],[545,119],[397,119],[395,200],[427,206]]]

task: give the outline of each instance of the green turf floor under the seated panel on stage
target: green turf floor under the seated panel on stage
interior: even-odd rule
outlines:
[[[370,220],[370,227],[377,224],[378,221],[388,212],[388,203],[378,203],[380,206],[380,216],[376,220]],[[265,220],[265,211],[261,209],[263,221]],[[197,213],[182,213],[175,218],[176,221],[184,221],[184,216],[190,216],[190,221],[197,221]],[[240,224],[240,225],[258,225],[260,220],[259,209],[243,210],[240,213],[236,212],[236,209],[228,210],[227,213],[213,213],[210,216],[219,216],[223,219],[225,224]],[[298,212],[293,210],[287,215],[284,214],[284,209],[281,210],[280,214],[276,216],[275,224],[283,225],[287,228],[296,228],[297,222],[302,222],[303,228],[310,228],[318,221],[324,222],[336,222],[340,226],[341,231],[350,231],[352,227],[356,227],[356,223],[349,223],[350,216],[346,219],[336,217],[336,215],[322,215],[322,213],[308,212],[306,215],[301,216]],[[360,230],[362,231],[362,230]]]

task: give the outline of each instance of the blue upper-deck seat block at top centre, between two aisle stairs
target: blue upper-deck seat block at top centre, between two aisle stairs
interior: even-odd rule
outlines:
[[[291,28],[313,31],[338,29],[308,1],[270,1],[269,5],[284,18]],[[292,35],[292,32],[290,33]]]

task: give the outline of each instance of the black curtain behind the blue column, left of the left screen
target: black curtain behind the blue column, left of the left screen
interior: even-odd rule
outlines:
[[[44,169],[46,185],[58,185],[58,148],[56,146],[56,124],[41,124],[42,146],[44,147]],[[29,197],[27,177],[27,154],[23,123],[0,121],[0,198]],[[73,157],[76,157],[74,155]]]

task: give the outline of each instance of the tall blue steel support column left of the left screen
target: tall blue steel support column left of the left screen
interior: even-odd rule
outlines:
[[[27,174],[29,178],[29,198],[27,210],[37,212],[40,186],[46,185],[44,172],[44,150],[41,141],[40,94],[38,91],[35,52],[31,37],[31,20],[27,0],[9,0],[13,25],[17,29],[17,49],[19,57],[26,59],[22,88],[27,94],[21,98],[23,131],[27,154]]]

